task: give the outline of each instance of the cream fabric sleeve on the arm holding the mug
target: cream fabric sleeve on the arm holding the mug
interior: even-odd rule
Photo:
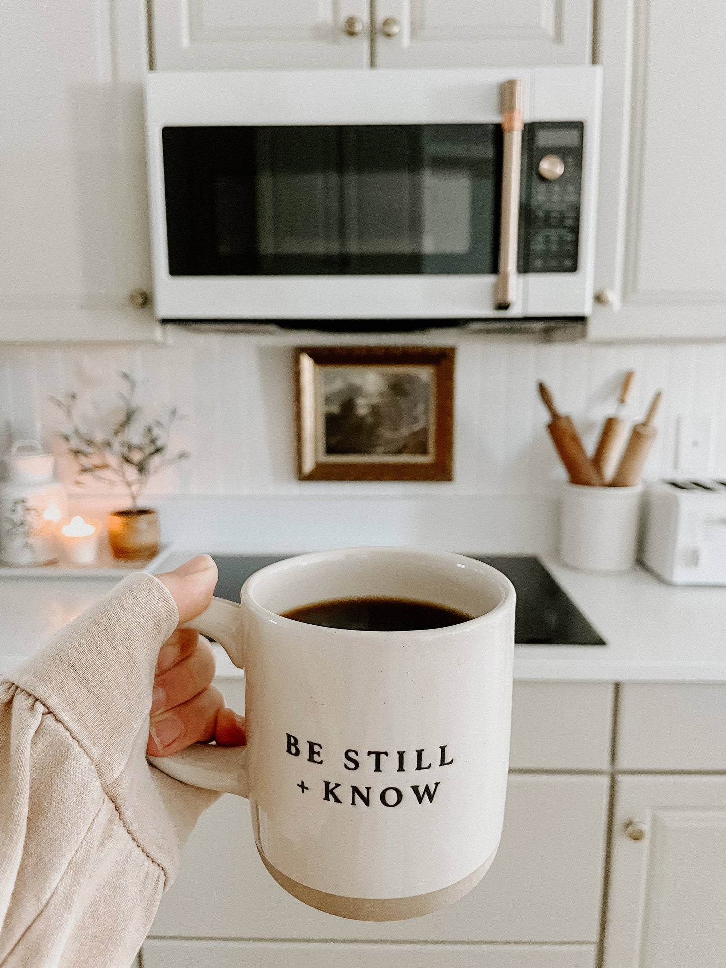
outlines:
[[[128,968],[218,797],[146,762],[177,618],[134,575],[0,681],[0,965]]]

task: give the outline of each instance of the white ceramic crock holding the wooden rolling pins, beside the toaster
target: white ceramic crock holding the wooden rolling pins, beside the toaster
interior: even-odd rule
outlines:
[[[583,571],[627,571],[635,564],[641,485],[565,484],[560,559]]]

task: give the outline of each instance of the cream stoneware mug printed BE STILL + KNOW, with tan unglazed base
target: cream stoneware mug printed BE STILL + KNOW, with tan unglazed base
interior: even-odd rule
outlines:
[[[473,618],[375,632],[282,617],[368,597]],[[361,921],[436,911],[479,882],[499,846],[514,608],[511,582],[461,555],[353,548],[268,565],[241,607],[213,599],[188,623],[245,669],[247,746],[151,762],[249,798],[262,862],[307,904]]]

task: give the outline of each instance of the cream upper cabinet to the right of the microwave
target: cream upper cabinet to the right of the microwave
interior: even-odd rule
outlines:
[[[595,339],[726,336],[726,4],[601,0]]]

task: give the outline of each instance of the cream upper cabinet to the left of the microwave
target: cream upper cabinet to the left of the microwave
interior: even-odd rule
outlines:
[[[0,340],[157,332],[130,300],[151,287],[145,36],[141,2],[3,6]]]

